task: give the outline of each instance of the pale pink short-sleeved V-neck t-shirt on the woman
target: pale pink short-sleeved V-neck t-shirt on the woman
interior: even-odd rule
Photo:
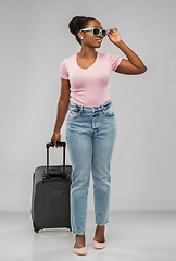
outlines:
[[[97,52],[95,63],[88,69],[77,64],[77,53],[66,58],[60,67],[61,78],[71,84],[70,102],[77,105],[98,107],[110,101],[109,85],[111,72],[115,71],[122,58]]]

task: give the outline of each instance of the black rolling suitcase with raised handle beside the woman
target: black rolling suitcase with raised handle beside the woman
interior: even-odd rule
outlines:
[[[34,231],[66,227],[71,229],[70,186],[72,166],[65,165],[66,142],[63,146],[63,165],[49,165],[49,148],[46,145],[47,166],[36,167],[33,175],[32,220]]]

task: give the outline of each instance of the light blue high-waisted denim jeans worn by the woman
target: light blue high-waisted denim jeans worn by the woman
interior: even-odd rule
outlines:
[[[110,162],[117,135],[117,124],[109,101],[99,107],[70,103],[66,142],[72,162],[71,228],[85,235],[90,170],[93,178],[96,224],[109,222]]]

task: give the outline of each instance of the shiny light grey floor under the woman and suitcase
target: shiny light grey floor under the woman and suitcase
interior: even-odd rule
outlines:
[[[106,247],[96,250],[93,212],[87,212],[87,256],[73,252],[67,228],[34,232],[29,213],[0,213],[0,261],[176,261],[176,212],[111,212]]]

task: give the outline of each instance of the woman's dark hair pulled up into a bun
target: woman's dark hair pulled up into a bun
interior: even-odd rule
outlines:
[[[75,35],[76,40],[81,45],[80,38],[78,37],[77,33],[85,28],[88,25],[90,20],[96,20],[93,17],[86,17],[86,16],[75,16],[68,23],[68,28],[73,35]]]

